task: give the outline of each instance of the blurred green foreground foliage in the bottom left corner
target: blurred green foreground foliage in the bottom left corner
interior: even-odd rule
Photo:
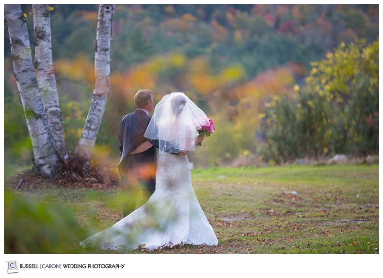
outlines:
[[[73,212],[33,202],[5,188],[4,253],[74,253],[85,238]]]

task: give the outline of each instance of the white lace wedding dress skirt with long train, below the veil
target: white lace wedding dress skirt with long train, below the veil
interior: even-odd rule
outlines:
[[[191,186],[186,155],[160,154],[156,191],[137,210],[80,243],[82,247],[148,250],[174,245],[218,245]]]

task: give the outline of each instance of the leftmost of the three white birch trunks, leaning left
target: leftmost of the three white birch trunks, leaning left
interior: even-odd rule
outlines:
[[[59,178],[62,161],[56,152],[37,86],[29,35],[19,4],[4,4],[4,24],[10,38],[14,75],[32,140],[33,171],[41,176]]]

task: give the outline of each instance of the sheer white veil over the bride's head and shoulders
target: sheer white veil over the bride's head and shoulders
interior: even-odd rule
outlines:
[[[160,154],[175,148],[174,152],[194,151],[198,129],[209,120],[184,93],[165,95],[156,105],[144,137],[158,139]]]

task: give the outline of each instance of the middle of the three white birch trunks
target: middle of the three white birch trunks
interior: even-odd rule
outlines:
[[[32,7],[35,46],[34,68],[37,74],[37,84],[53,140],[60,158],[64,160],[68,158],[68,150],[64,141],[64,124],[53,68],[49,6],[48,4],[33,4]]]

